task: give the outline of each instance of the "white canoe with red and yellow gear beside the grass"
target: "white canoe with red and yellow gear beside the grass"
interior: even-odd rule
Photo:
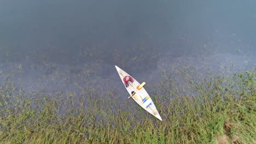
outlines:
[[[125,83],[123,81],[124,77],[126,75],[127,76],[131,76],[131,75],[127,74],[124,70],[122,70],[119,67],[117,67],[117,65],[115,65],[115,68],[117,69],[118,74],[119,74],[119,76],[121,78],[121,81],[123,82],[123,84],[125,86]],[[147,93],[147,91],[143,87],[141,87],[144,84],[144,82],[141,85],[133,77],[132,77],[132,79],[134,81],[133,82],[129,82],[129,87],[125,86],[125,88],[127,89],[128,93],[130,95],[132,95],[132,91],[135,92],[135,94],[133,96],[131,96],[132,99],[135,100],[136,103],[138,105],[140,105],[144,110],[146,110],[151,115],[155,116],[156,118],[160,119],[160,121],[162,121],[162,118],[159,115],[158,110],[156,110],[156,107],[155,107],[152,99],[149,97],[149,94]]]

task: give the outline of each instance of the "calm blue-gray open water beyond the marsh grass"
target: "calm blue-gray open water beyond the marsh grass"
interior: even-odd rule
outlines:
[[[182,66],[234,73],[255,67],[255,26],[255,1],[0,0],[0,84],[126,93],[114,65],[149,83]]]

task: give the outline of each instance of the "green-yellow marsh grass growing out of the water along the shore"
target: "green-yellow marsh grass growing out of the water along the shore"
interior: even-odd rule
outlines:
[[[164,70],[149,94],[159,121],[118,89],[26,93],[6,79],[0,87],[1,143],[255,143],[256,73],[194,79],[183,67]],[[2,74],[3,75],[3,74]],[[122,98],[123,99],[123,98]]]

